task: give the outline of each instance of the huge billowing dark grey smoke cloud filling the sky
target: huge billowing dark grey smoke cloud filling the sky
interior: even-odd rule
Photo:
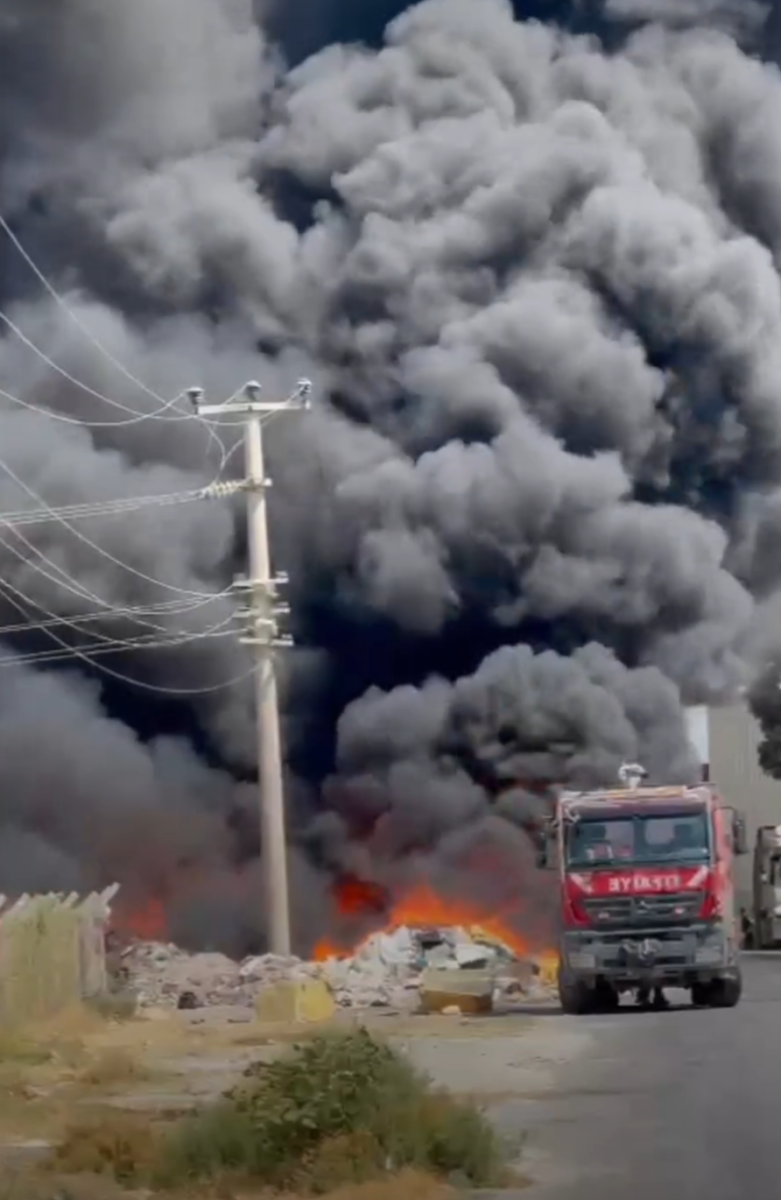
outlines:
[[[767,648],[780,47],[752,0],[0,0],[0,210],[77,317],[0,238],[1,311],[72,377],[2,335],[0,388],[52,414],[0,401],[2,461],[50,504],[217,469],[197,422],[73,383],[158,407],[82,326],[166,397],[316,383],[269,430],[304,938],[338,871],[452,876],[492,842],[528,871],[530,785],[686,774],[681,700]],[[1,534],[6,583],[73,616],[242,565],[228,502],[79,529],[103,553]],[[247,668],[230,638],[110,665],[180,692]],[[191,936],[246,944],[250,684],[0,689],[0,890],[166,886]]]

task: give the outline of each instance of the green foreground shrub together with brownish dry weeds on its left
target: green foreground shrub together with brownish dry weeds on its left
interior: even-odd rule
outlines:
[[[133,1068],[132,1058],[114,1051],[82,1072],[65,1093],[71,1103],[53,1105],[55,1150],[38,1172],[44,1169],[52,1181],[98,1176],[128,1189],[151,1183],[173,1195],[186,1186],[187,1200],[251,1196],[263,1194],[263,1186],[293,1195],[402,1200],[409,1192],[398,1190],[405,1183],[396,1176],[388,1178],[389,1164],[413,1172],[404,1181],[426,1180],[421,1195],[439,1200],[449,1193],[432,1192],[432,1175],[477,1186],[506,1174],[504,1148],[480,1110],[433,1090],[403,1056],[365,1032],[300,1044],[253,1072],[230,1097],[173,1123],[161,1114],[150,1123],[148,1114],[110,1109],[84,1091],[85,1079],[94,1087],[127,1082]],[[74,1122],[77,1094],[90,1104]],[[366,1192],[370,1184],[374,1190]]]

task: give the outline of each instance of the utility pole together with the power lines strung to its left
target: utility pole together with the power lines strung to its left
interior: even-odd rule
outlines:
[[[146,618],[151,616],[148,611],[142,616],[138,610],[133,613],[132,618],[138,624],[148,624],[152,628],[152,632],[148,635],[139,635],[133,638],[110,638],[100,631],[92,631],[89,629],[89,624],[92,619],[92,614],[82,614],[80,619],[68,619],[64,618],[61,614],[49,612],[40,602],[31,600],[20,589],[10,584],[5,581],[6,593],[8,589],[14,592],[17,599],[6,594],[6,600],[11,602],[22,613],[23,617],[29,619],[29,612],[25,612],[22,604],[28,606],[32,605],[34,608],[41,614],[37,623],[31,628],[40,630],[46,636],[52,638],[58,649],[53,649],[42,656],[40,653],[32,652],[26,661],[44,661],[44,662],[58,662],[67,658],[80,658],[90,666],[97,665],[108,676],[116,678],[126,684],[134,684],[136,686],[144,688],[149,691],[158,691],[166,695],[203,695],[208,691],[220,690],[222,686],[233,686],[240,679],[248,678],[251,674],[256,674],[256,704],[258,710],[258,760],[259,760],[259,800],[260,800],[260,815],[262,815],[262,827],[263,827],[263,845],[264,845],[264,869],[268,887],[268,900],[269,900],[269,912],[271,918],[271,948],[277,953],[289,953],[290,943],[290,930],[289,930],[289,898],[288,898],[288,881],[287,881],[287,846],[286,846],[286,830],[284,830],[284,794],[282,784],[282,767],[281,767],[281,748],[280,748],[280,725],[278,725],[278,710],[277,710],[277,695],[276,695],[276,678],[274,668],[274,647],[284,643],[284,638],[278,635],[278,628],[276,623],[276,614],[284,610],[275,602],[276,588],[278,583],[284,582],[282,576],[271,576],[271,568],[269,562],[269,540],[268,540],[268,528],[266,528],[266,508],[265,508],[265,490],[268,486],[268,480],[264,473],[264,461],[263,461],[263,437],[262,428],[263,421],[276,416],[277,414],[286,412],[290,408],[308,407],[308,396],[311,391],[311,384],[308,380],[302,380],[295,389],[292,396],[283,402],[266,403],[260,400],[260,388],[258,384],[247,384],[244,389],[244,396],[239,398],[238,396],[230,397],[228,402],[220,406],[206,406],[203,403],[203,391],[200,389],[190,389],[187,396],[192,404],[192,413],[184,414],[179,410],[178,403],[181,396],[174,400],[167,401],[162,396],[157,395],[152,389],[150,389],[143,380],[138,379],[128,368],[116,359],[110,350],[108,350],[98,338],[92,334],[88,325],[74,313],[68,306],[67,301],[60,295],[56,288],[47,278],[46,274],[38,268],[31,256],[28,253],[25,247],[22,245],[13,229],[8,226],[5,218],[0,215],[0,229],[2,229],[11,242],[14,245],[19,254],[23,257],[29,269],[37,277],[38,282],[44,287],[47,293],[52,296],[54,302],[65,312],[68,319],[80,330],[83,336],[98,350],[98,353],[110,362],[116,371],[120,372],[130,383],[134,384],[148,396],[156,401],[157,408],[150,413],[137,413],[134,409],[119,401],[114,401],[96,389],[85,384],[83,380],[77,379],[71,372],[66,371],[60,364],[55,362],[50,355],[41,349],[28,335],[11,320],[7,314],[0,313],[0,320],[6,325],[6,328],[24,344],[30,349],[36,356],[38,356],[43,362],[47,364],[49,370],[54,371],[60,378],[66,379],[72,386],[78,388],[86,395],[91,395],[95,400],[101,403],[108,404],[110,408],[125,412],[127,414],[126,420],[118,421],[96,421],[90,422],[80,418],[72,418],[67,414],[56,413],[52,409],[40,409],[38,406],[31,404],[29,401],[19,400],[10,392],[0,392],[10,403],[17,403],[20,407],[32,409],[34,412],[41,412],[52,420],[62,420],[67,424],[82,425],[86,428],[89,427],[107,427],[115,425],[138,425],[142,421],[158,420],[158,421],[185,421],[196,419],[202,424],[204,428],[208,430],[210,440],[214,440],[220,451],[221,461],[217,468],[217,475],[212,480],[209,488],[202,491],[203,498],[211,498],[216,496],[229,494],[230,491],[235,491],[236,486],[226,490],[226,485],[221,480],[222,470],[227,464],[228,458],[233,450],[228,451],[226,449],[224,442],[220,439],[220,436],[214,428],[215,422],[208,420],[208,418],[216,418],[220,422],[224,421],[226,416],[229,414],[235,414],[244,419],[245,424],[245,461],[246,461],[246,480],[242,485],[247,492],[247,521],[248,521],[248,541],[250,541],[250,578],[244,581],[238,581],[239,589],[244,593],[248,601],[248,607],[246,608],[246,616],[248,618],[248,629],[241,641],[250,644],[256,654],[256,661],[251,671],[246,674],[239,677],[239,679],[227,680],[224,684],[217,686],[210,686],[204,689],[175,689],[175,688],[158,688],[154,684],[148,684],[144,680],[132,679],[120,672],[113,671],[104,664],[95,664],[95,655],[119,653],[119,652],[139,652],[140,649],[160,649],[161,647],[170,647],[173,644],[182,644],[185,642],[202,640],[209,636],[223,636],[227,631],[222,628],[211,628],[209,630],[200,631],[199,634],[187,634],[181,635],[172,634],[161,626],[154,626],[151,622]],[[238,443],[236,443],[238,444]],[[235,449],[235,445],[234,448]],[[73,538],[79,540],[82,544],[91,547],[97,554],[102,556],[106,560],[113,563],[116,568],[137,576],[138,578],[145,581],[146,583],[155,586],[157,588],[173,592],[178,595],[187,598],[188,601],[193,601],[192,608],[199,606],[202,602],[208,602],[208,595],[204,593],[198,593],[193,589],[180,588],[170,583],[166,583],[162,580],[155,580],[152,576],[146,575],[143,571],[137,570],[128,563],[124,563],[121,559],[113,556],[109,551],[104,550],[92,539],[88,538],[84,533],[76,528],[73,522],[83,520],[85,517],[95,516],[108,516],[108,515],[120,515],[125,512],[137,511],[139,503],[131,503],[127,500],[118,500],[115,503],[104,502],[98,504],[97,502],[78,505],[62,505],[58,510],[52,505],[47,504],[46,500],[40,497],[11,467],[7,462],[0,460],[0,469],[5,470],[10,479],[12,479],[18,487],[20,487],[37,505],[37,511],[30,512],[29,510],[17,511],[16,514],[8,514],[6,521],[0,518],[0,526],[4,526],[8,532],[8,535],[18,541],[26,545],[31,554],[36,556],[37,562],[31,562],[24,554],[14,547],[11,546],[5,539],[0,539],[2,544],[12,553],[20,557],[25,565],[32,566],[34,570],[41,571],[52,582],[59,586],[67,587],[73,592],[74,595],[80,595],[83,599],[97,607],[97,613],[95,619],[100,620],[101,612],[110,612],[112,616],[116,612],[112,605],[102,600],[102,598],[90,593],[88,588],[79,584],[77,580],[70,576],[59,564],[48,559],[41,551],[37,550],[31,542],[29,542],[20,528],[24,524],[41,523],[42,521],[54,521],[61,528],[68,530]],[[188,496],[187,499],[192,499]],[[151,500],[149,503],[152,503]],[[158,500],[162,503],[162,499]],[[178,497],[175,500],[173,498],[167,498],[166,503],[184,503],[184,497]],[[47,571],[41,563],[46,563],[48,568],[52,569],[50,574]],[[18,601],[22,601],[19,604]],[[182,611],[181,608],[179,611]],[[128,613],[128,610],[126,610]],[[160,612],[155,613],[161,616]],[[229,619],[229,618],[228,618]],[[92,638],[92,642],[97,641],[97,644],[91,644],[88,647],[88,653],[85,653],[79,646],[68,644],[60,636],[58,630],[61,628],[70,629],[71,632],[76,631],[83,634],[84,624],[88,625],[88,634]],[[224,624],[224,623],[222,623]],[[1,631],[0,631],[1,636]],[[22,658],[14,656],[11,660],[0,659],[0,665],[11,665],[11,662],[22,661]]]

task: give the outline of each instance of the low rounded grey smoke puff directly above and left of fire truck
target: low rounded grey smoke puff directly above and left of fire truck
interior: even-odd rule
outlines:
[[[338,722],[334,811],[373,808],[364,845],[403,859],[435,850],[449,829],[480,821],[486,793],[521,827],[541,809],[530,787],[599,786],[639,758],[656,778],[689,778],[691,750],[671,720],[675,688],[653,667],[621,666],[594,643],[564,659],[505,646],[473,676],[377,689]]]

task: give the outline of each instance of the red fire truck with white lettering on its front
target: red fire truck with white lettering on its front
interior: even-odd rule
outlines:
[[[559,883],[559,998],[565,1013],[618,1006],[621,992],[685,988],[692,1003],[740,1000],[733,860],[743,817],[710,784],[561,792],[539,865]]]

